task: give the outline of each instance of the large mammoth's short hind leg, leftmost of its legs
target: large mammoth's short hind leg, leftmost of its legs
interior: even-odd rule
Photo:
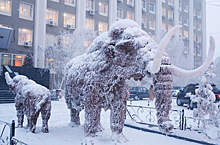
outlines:
[[[79,110],[70,108],[70,117],[71,117],[70,126],[74,127],[80,125],[79,113],[80,113]]]

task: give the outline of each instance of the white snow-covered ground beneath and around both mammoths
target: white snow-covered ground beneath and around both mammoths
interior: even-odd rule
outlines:
[[[132,101],[133,105],[142,105],[147,106],[146,100],[143,101]],[[128,101],[130,104],[130,101]],[[175,102],[173,101],[173,108],[177,108],[175,106]],[[150,102],[150,106],[154,106],[153,102]],[[185,108],[186,107],[182,107]],[[178,109],[182,109],[178,108]],[[189,111],[189,110],[186,110]],[[191,111],[189,111],[190,114]],[[26,132],[26,128],[16,128],[15,136],[19,140],[29,144],[29,145],[82,145],[85,141],[84,133],[83,133],[83,123],[84,123],[84,112],[81,114],[81,126],[79,127],[70,127],[68,123],[70,121],[69,110],[65,104],[64,99],[60,99],[59,101],[52,102],[52,114],[49,120],[49,133],[41,132],[41,117],[38,118],[36,133],[33,134],[31,132]],[[111,130],[110,130],[110,122],[109,122],[110,111],[105,112],[104,110],[101,113],[101,123],[104,127],[104,131],[99,133],[97,137],[93,140],[94,145],[115,145],[115,144],[126,144],[126,145],[193,145],[196,143],[192,143],[189,141],[184,141],[180,139],[176,139],[173,137],[169,137],[166,135],[160,135],[155,133],[144,132],[136,129],[132,129],[129,127],[124,127],[123,133],[125,137],[129,140],[127,143],[115,143],[111,141]],[[11,122],[11,120],[16,120],[16,110],[14,104],[0,104],[0,120]],[[26,124],[26,118],[25,118]],[[0,132],[1,132],[0,126]],[[207,140],[204,134],[198,134],[192,131],[180,131],[175,130],[174,134],[190,137],[195,139]],[[88,140],[88,138],[87,138]],[[209,141],[210,142],[210,141]],[[213,143],[218,144],[217,141],[213,141]],[[90,145],[90,144],[87,144]]]

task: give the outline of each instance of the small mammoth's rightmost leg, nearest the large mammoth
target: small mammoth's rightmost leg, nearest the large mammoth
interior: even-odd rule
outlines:
[[[50,115],[51,115],[51,102],[47,102],[45,105],[42,106],[41,108],[41,115],[42,115],[42,129],[41,131],[43,133],[48,133],[49,129],[48,129],[48,120],[50,119]]]

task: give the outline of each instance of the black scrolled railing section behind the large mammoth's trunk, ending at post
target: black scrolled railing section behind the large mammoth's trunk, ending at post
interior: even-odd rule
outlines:
[[[157,126],[156,108],[127,105],[126,117],[130,117],[133,121],[140,124],[147,124]],[[184,124],[184,110],[171,110],[170,121],[174,128],[183,129]]]

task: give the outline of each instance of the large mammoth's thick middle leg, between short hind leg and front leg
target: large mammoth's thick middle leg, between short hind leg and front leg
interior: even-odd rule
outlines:
[[[85,105],[85,123],[84,133],[85,136],[94,137],[96,132],[102,131],[100,125],[101,107],[91,102],[87,102]]]

